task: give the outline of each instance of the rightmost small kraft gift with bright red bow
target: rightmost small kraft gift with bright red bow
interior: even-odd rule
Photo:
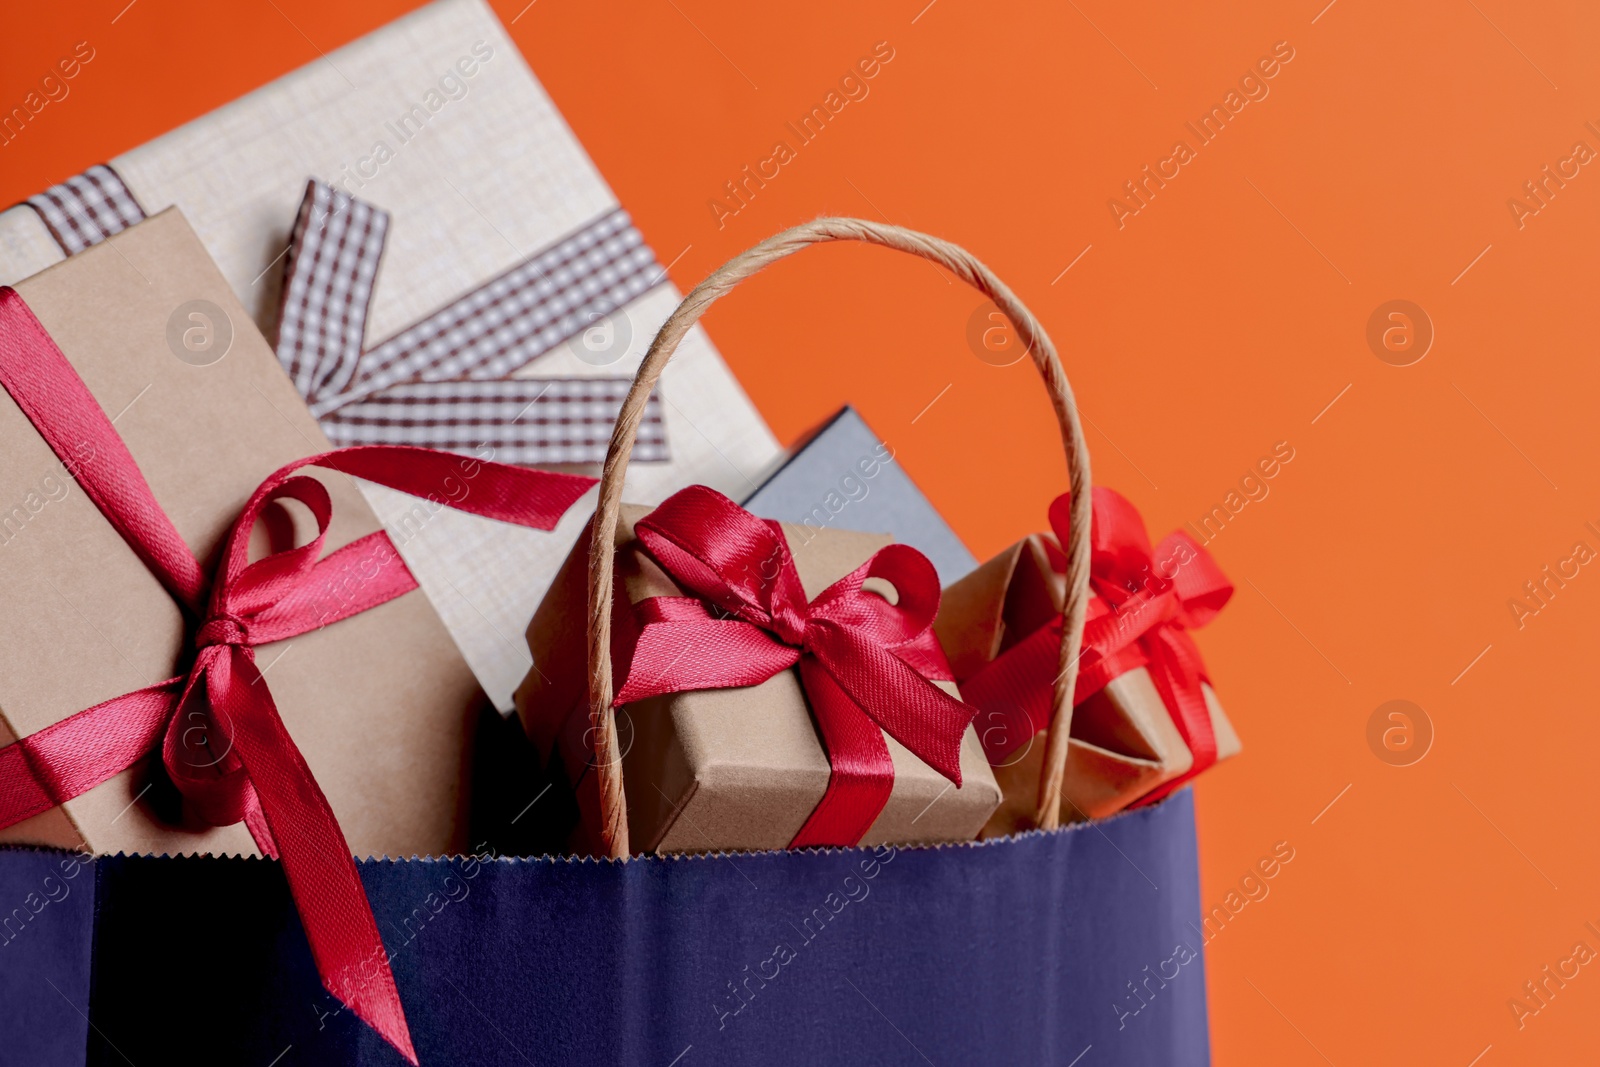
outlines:
[[[1139,512],[1096,486],[1090,587],[1074,696],[1061,819],[1098,819],[1158,800],[1240,741],[1187,630],[1210,622],[1234,587],[1186,533],[1157,547]],[[1030,534],[944,592],[939,640],[1005,801],[986,835],[1030,825],[1045,757],[1067,598],[1070,499],[1050,509],[1053,533]]]

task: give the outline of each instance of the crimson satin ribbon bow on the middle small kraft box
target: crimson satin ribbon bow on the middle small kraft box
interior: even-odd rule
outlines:
[[[616,705],[757,685],[798,664],[832,771],[790,848],[861,840],[894,784],[883,733],[962,784],[971,709],[930,681],[950,669],[933,637],[939,579],[926,557],[888,545],[806,603],[782,528],[715,490],[675,493],[635,534],[694,595],[618,606]],[[888,581],[896,603],[862,589],[869,577]]]

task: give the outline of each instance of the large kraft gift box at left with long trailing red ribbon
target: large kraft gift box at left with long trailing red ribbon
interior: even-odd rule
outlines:
[[[280,859],[414,1061],[352,854],[462,851],[482,691],[355,478],[546,530],[592,480],[330,450],[178,210],[0,288],[0,840]]]

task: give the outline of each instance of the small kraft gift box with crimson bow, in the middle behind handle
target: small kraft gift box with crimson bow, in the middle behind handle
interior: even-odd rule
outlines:
[[[614,553],[635,849],[963,841],[989,819],[1000,792],[933,637],[939,584],[922,553],[762,520],[704,486],[624,507]],[[579,854],[603,848],[576,669],[590,569],[584,539],[528,625],[534,669],[517,691],[578,798]]]

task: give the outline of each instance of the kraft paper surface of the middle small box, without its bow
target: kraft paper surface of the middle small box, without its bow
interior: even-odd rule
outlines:
[[[618,525],[618,584],[630,605],[683,595],[635,539],[635,523],[650,510],[624,506]],[[893,542],[885,534],[789,523],[782,536],[806,598]],[[552,761],[554,781],[576,797],[570,848],[584,854],[597,849],[598,825],[598,776],[584,705],[586,584],[587,536],[528,625],[534,669],[517,691],[530,739]],[[950,681],[934,685],[955,694]],[[654,696],[616,715],[634,851],[786,848],[829,785],[829,755],[792,669],[746,688]],[[1000,801],[973,728],[962,736],[958,789],[894,737],[885,734],[885,741],[894,761],[893,792],[861,843],[971,840]]]

